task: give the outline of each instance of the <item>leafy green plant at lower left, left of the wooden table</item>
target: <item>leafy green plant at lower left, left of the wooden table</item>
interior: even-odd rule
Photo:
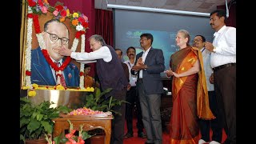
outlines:
[[[45,140],[45,134],[50,135],[53,132],[52,119],[58,118],[60,113],[67,114],[71,111],[66,106],[50,107],[51,104],[54,102],[47,101],[36,105],[30,98],[20,98],[20,140],[26,143],[31,140]]]

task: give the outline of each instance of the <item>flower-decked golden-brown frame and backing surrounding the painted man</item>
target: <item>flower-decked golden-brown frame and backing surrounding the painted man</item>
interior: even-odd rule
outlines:
[[[41,3],[39,3],[41,2]],[[57,2],[55,6],[50,6],[46,1],[34,2],[30,0],[22,0],[22,15],[21,15],[21,32],[20,32],[20,86],[22,90],[81,90],[93,91],[93,88],[84,87],[84,64],[76,62],[73,58],[70,61],[74,66],[78,67],[79,86],[64,87],[59,82],[59,78],[55,86],[38,85],[32,83],[31,76],[31,50],[41,48],[43,56],[46,57],[46,44],[42,37],[44,24],[51,19],[58,19],[63,22],[69,30],[68,47],[72,51],[84,52],[86,42],[86,30],[89,28],[88,18],[85,14],[70,11],[61,2]],[[49,54],[48,54],[49,55]],[[50,59],[50,58],[48,58]],[[50,62],[46,60],[50,66]],[[66,57],[68,59],[68,57]],[[66,61],[66,60],[65,60]],[[65,63],[65,62],[63,62]],[[64,64],[63,64],[64,65]],[[58,69],[62,73],[62,69]],[[76,75],[77,76],[77,75]]]

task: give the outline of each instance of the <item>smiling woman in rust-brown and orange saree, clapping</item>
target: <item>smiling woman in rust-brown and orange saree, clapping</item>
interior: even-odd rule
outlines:
[[[198,144],[198,118],[214,118],[208,102],[202,53],[189,45],[190,34],[186,30],[178,30],[175,40],[179,50],[171,55],[170,70],[166,70],[167,77],[173,76],[170,143]]]

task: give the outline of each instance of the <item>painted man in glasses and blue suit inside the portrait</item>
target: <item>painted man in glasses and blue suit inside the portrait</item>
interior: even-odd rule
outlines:
[[[63,22],[51,19],[44,24],[42,32],[46,46],[43,54],[41,47],[31,50],[31,83],[42,86],[55,86],[57,84],[55,66],[62,66],[60,81],[62,86],[79,86],[78,67],[58,54],[61,48],[68,48],[70,41],[69,30]]]

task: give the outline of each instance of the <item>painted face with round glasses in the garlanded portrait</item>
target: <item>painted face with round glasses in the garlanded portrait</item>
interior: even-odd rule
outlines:
[[[51,58],[59,61],[63,58],[58,54],[58,50],[68,48],[69,32],[62,22],[50,22],[44,31],[44,40],[46,42],[46,50]]]

